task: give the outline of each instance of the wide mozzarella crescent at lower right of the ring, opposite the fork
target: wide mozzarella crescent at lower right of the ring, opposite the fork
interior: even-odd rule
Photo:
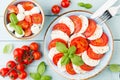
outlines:
[[[100,62],[100,60],[93,60],[93,59],[91,59],[87,55],[86,51],[82,54],[82,59],[83,59],[84,63],[89,65],[89,66],[97,66],[99,64],[99,62]]]

